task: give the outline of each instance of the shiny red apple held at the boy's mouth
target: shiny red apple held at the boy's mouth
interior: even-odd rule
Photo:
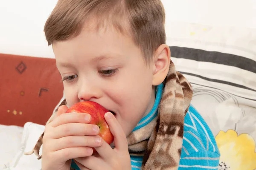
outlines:
[[[79,102],[75,105],[71,106],[66,113],[88,113],[91,115],[92,119],[90,124],[99,126],[99,136],[102,137],[108,144],[111,144],[114,140],[114,136],[112,135],[107,122],[105,121],[104,115],[109,112],[102,105],[99,105],[96,102]],[[96,153],[96,150],[93,148],[93,153]]]

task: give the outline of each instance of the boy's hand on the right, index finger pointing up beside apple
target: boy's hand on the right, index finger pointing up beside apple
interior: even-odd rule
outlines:
[[[122,127],[112,113],[105,114],[105,119],[114,136],[115,148],[112,149],[103,139],[100,147],[95,147],[98,156],[74,159],[81,170],[131,170],[128,144]]]

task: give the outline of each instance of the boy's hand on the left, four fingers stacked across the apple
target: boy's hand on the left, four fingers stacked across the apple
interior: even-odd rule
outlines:
[[[46,125],[43,138],[42,170],[70,170],[71,159],[91,156],[90,147],[99,147],[99,127],[90,125],[86,113],[65,113],[67,106],[58,109],[55,119]],[[94,128],[96,130],[94,130]]]

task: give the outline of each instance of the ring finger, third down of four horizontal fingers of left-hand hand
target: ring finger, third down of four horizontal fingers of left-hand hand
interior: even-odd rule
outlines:
[[[102,145],[102,139],[99,136],[67,136],[56,141],[52,150],[57,151],[68,147],[99,147]]]

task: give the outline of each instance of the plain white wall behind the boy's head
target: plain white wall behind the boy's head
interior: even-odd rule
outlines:
[[[162,1],[166,8],[166,23],[178,20],[256,28],[254,0]],[[0,53],[53,58],[52,48],[47,46],[43,29],[56,2],[0,0]]]

